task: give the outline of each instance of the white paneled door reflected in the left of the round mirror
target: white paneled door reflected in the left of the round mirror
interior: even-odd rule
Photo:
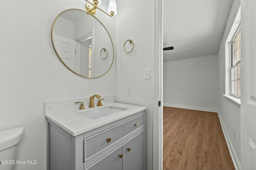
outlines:
[[[62,58],[62,61],[75,71],[75,45],[76,41],[58,34],[54,34],[55,47]]]

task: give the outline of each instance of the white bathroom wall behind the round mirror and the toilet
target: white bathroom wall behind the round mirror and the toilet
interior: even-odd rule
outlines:
[[[17,170],[46,170],[45,101],[116,92],[115,66],[103,77],[83,78],[68,70],[52,47],[56,16],[84,6],[83,0],[0,2],[0,131],[24,127],[17,159],[37,161],[35,165],[18,165]],[[98,17],[104,18],[115,40],[114,18]]]

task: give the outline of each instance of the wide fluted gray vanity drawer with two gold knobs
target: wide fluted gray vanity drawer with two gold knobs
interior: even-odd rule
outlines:
[[[84,139],[84,162],[143,125],[144,114]]]

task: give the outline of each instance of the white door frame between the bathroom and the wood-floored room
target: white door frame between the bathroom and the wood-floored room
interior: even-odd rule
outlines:
[[[154,0],[153,169],[163,169],[163,0]],[[161,106],[158,102],[161,101]]]

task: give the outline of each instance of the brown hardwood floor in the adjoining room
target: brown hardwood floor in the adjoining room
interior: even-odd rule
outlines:
[[[164,106],[163,170],[235,170],[218,114]]]

